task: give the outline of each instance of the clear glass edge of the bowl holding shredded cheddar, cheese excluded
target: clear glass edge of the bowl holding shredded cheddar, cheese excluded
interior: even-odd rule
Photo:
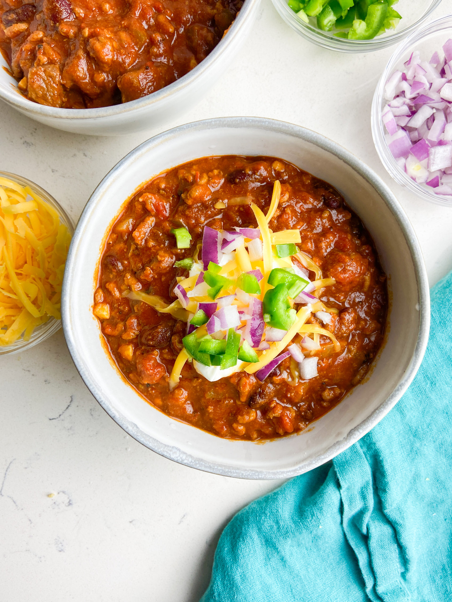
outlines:
[[[58,212],[60,216],[60,222],[63,223],[66,228],[71,232],[71,235],[74,234],[74,225],[72,223],[71,218],[67,215],[66,211],[64,211],[63,207],[52,197],[48,192],[46,192],[43,188],[34,184],[27,178],[22,178],[22,176],[17,176],[15,173],[8,172],[0,172],[0,176],[4,178],[8,178],[13,182],[17,182],[20,186],[30,186],[31,190],[39,194],[39,196],[45,200],[46,203],[49,203],[55,211]],[[50,317],[44,324],[37,326],[31,337],[28,341],[24,341],[23,338],[17,339],[17,341],[11,345],[7,345],[5,347],[0,346],[0,355],[6,355],[7,353],[19,353],[25,351],[25,349],[30,349],[34,345],[38,343],[42,343],[46,338],[49,338],[57,332],[61,328],[61,320],[55,320],[55,318]]]

